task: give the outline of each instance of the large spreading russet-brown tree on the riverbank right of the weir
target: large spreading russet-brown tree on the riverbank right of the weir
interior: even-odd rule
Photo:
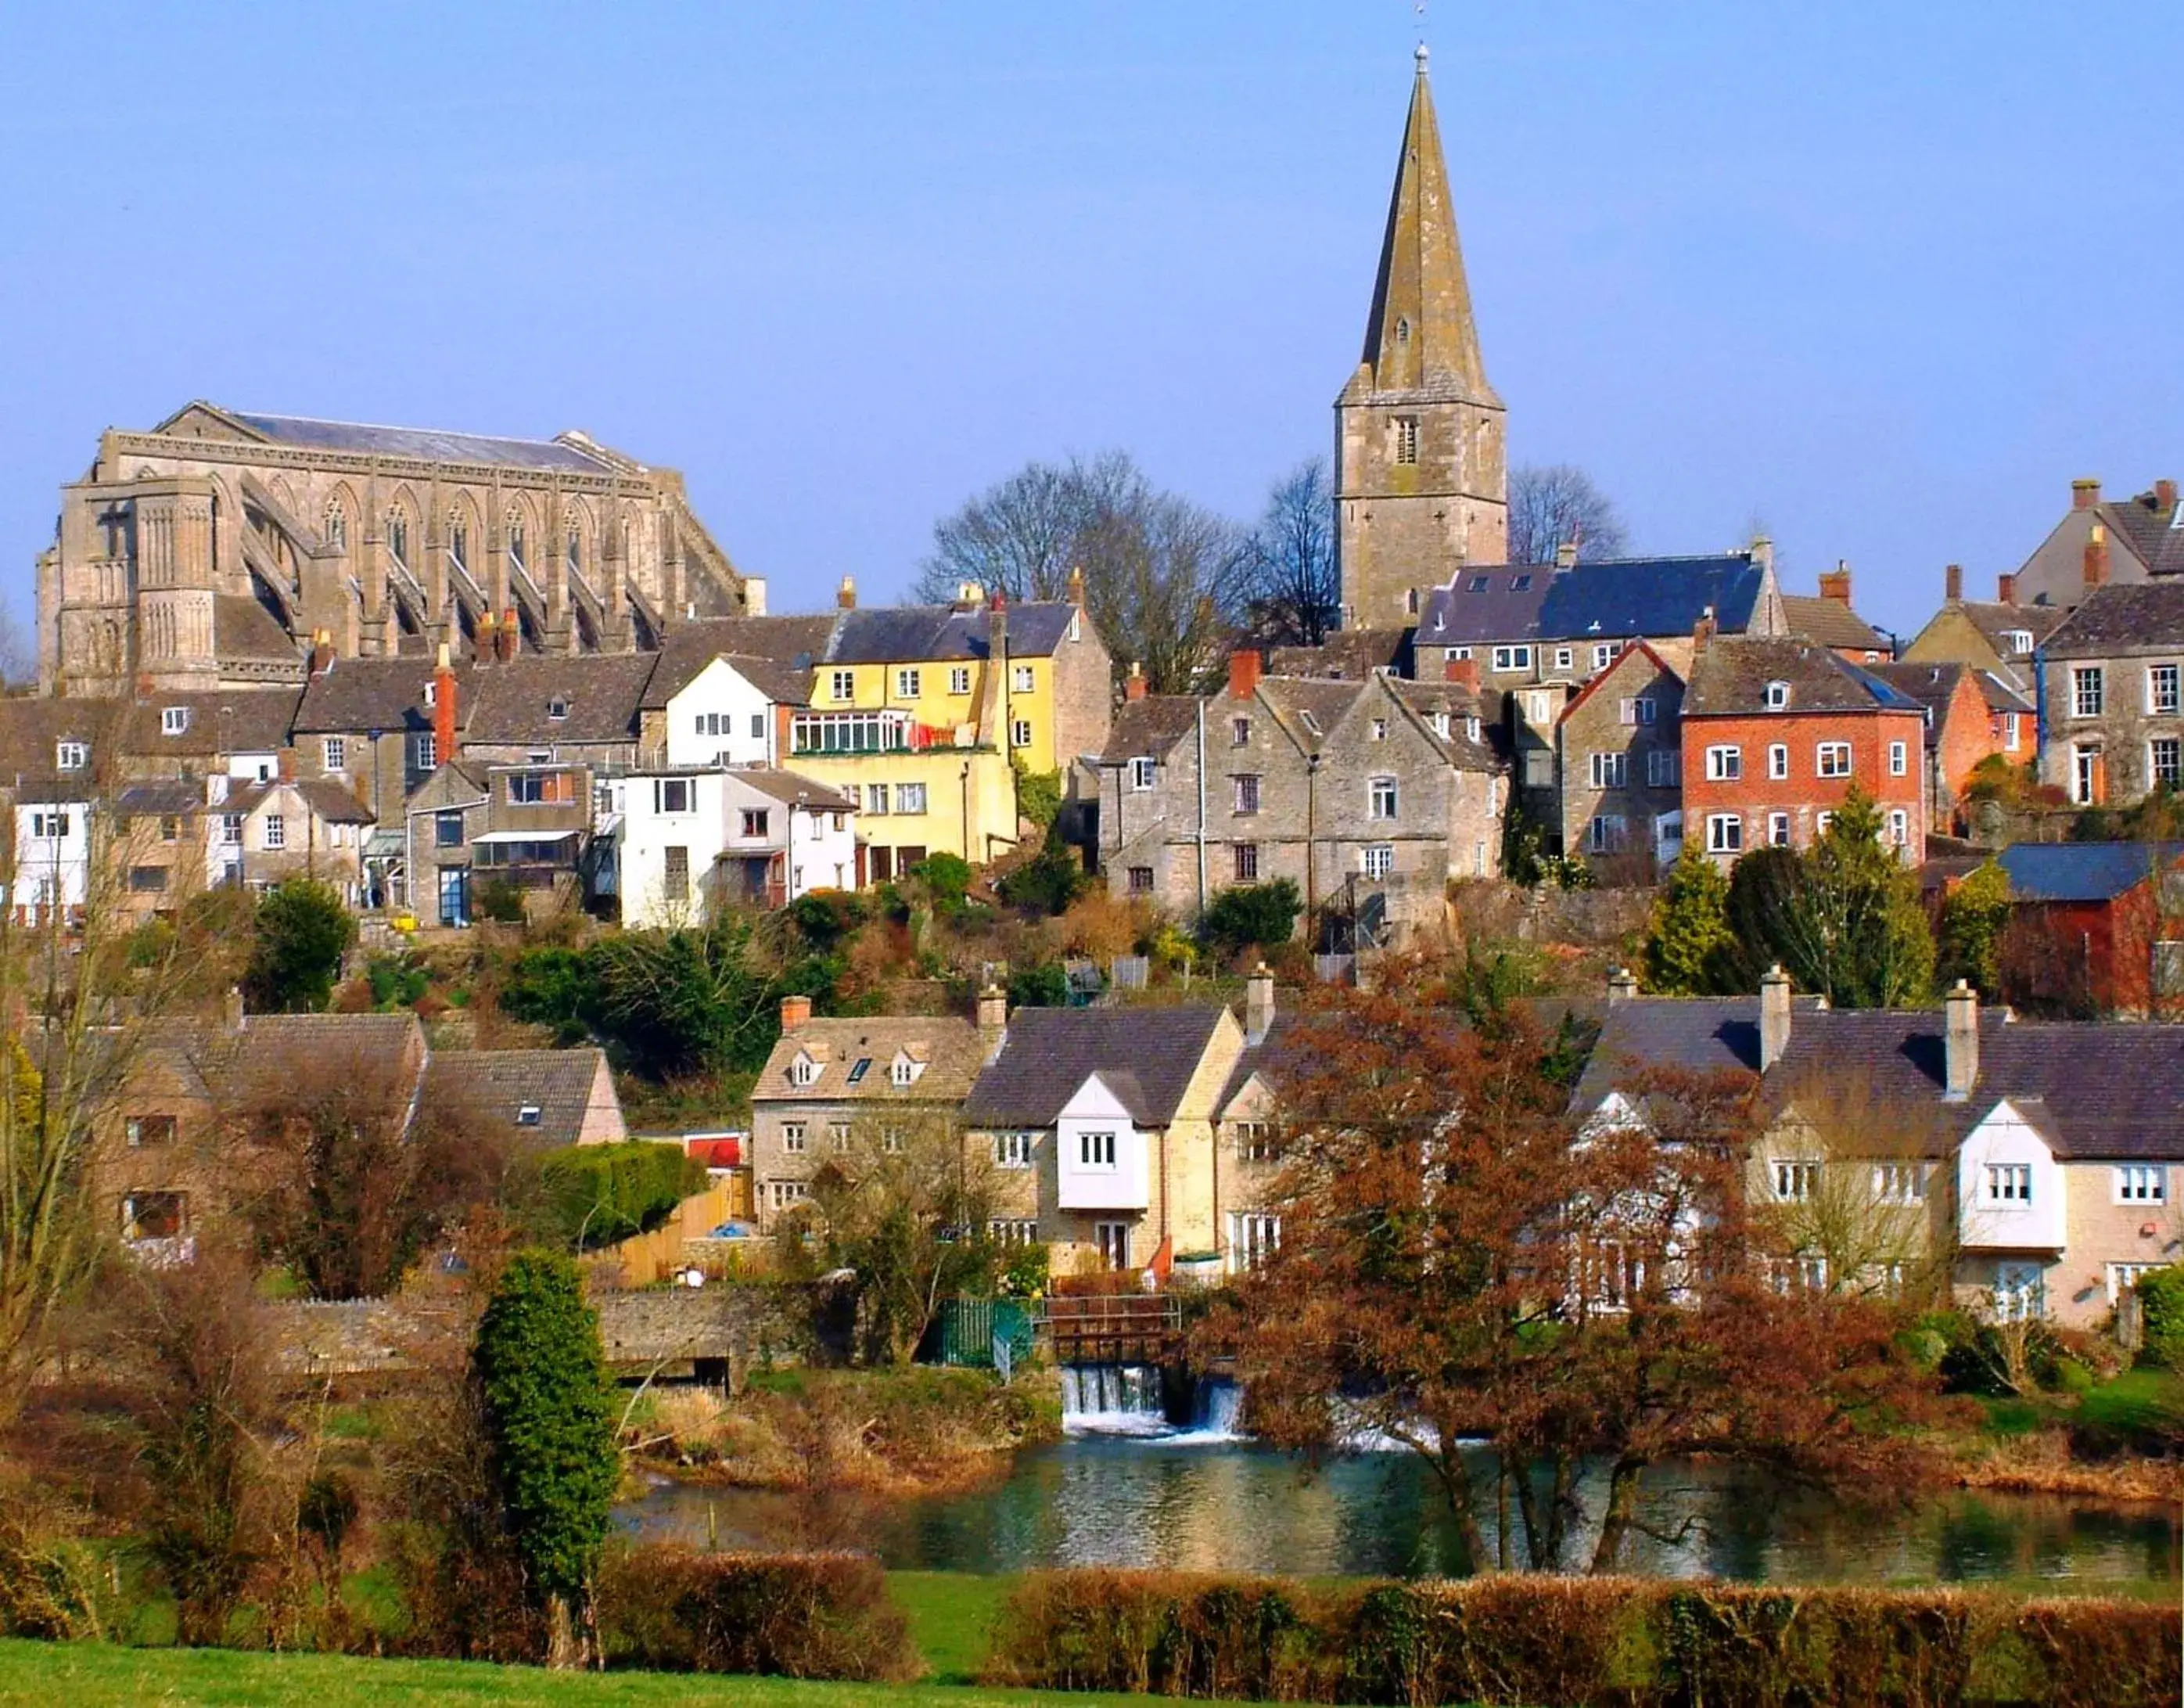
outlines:
[[[1203,1330],[1251,1426],[1306,1455],[1404,1444],[1479,1568],[1516,1564],[1518,1525],[1535,1570],[1572,1564],[1583,1461],[1607,1468],[1597,1573],[1662,1459],[1815,1481],[1894,1461],[1872,1424],[1924,1378],[1885,1306],[1808,1297],[1765,1260],[1743,1195],[1754,1081],[1655,1072],[1627,1088],[1642,1123],[1579,1131],[1557,1040],[1457,998],[1431,965],[1337,992],[1275,1068],[1282,1243]],[[1492,1476],[1463,1439],[1492,1446]]]

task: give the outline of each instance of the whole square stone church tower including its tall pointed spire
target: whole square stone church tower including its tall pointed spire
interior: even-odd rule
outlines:
[[[1343,627],[1415,622],[1420,590],[1444,585],[1459,564],[1509,555],[1503,430],[1420,46],[1365,356],[1334,400]]]

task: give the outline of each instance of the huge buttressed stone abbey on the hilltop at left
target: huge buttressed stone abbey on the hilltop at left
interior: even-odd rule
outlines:
[[[109,428],[37,559],[48,695],[301,686],[339,657],[566,655],[756,616],[681,478],[581,432],[467,432],[194,402]],[[507,638],[513,633],[513,642]]]

